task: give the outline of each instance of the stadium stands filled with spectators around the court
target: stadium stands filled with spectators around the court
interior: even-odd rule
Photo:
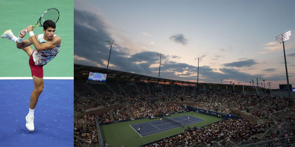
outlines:
[[[161,84],[154,80],[128,81],[126,77],[112,77],[104,84],[87,84],[87,71],[79,72],[74,80],[75,146],[99,145],[96,130],[99,123],[185,111],[180,104],[240,115],[243,119],[187,128],[183,133],[159,138],[144,146],[238,146],[256,142],[265,145],[264,141],[294,145],[294,99],[264,95],[256,86],[235,85],[233,88],[233,85],[212,83],[184,86],[173,85],[173,80]],[[166,96],[167,100],[163,101],[160,96]],[[120,107],[112,108],[118,105]],[[104,109],[109,111],[100,111]],[[97,112],[91,114],[92,111]]]

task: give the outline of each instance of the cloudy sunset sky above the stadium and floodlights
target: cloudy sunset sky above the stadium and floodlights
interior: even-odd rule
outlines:
[[[75,1],[74,63],[161,78],[295,87],[295,1]],[[268,87],[266,87],[268,88]]]

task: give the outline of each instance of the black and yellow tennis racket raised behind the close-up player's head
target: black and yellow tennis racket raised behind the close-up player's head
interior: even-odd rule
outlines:
[[[53,22],[57,23],[59,17],[60,17],[59,11],[57,9],[55,9],[55,8],[50,8],[50,9],[46,10],[41,15],[41,17],[36,22],[36,24],[33,25],[33,28],[43,27],[44,21],[47,21],[47,20],[52,20]],[[25,31],[27,32],[27,29]],[[23,34],[23,33],[21,32],[21,34]]]

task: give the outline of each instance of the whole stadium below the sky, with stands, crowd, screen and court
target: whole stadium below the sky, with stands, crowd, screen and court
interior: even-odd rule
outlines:
[[[74,64],[74,146],[294,146],[294,112],[258,86]]]

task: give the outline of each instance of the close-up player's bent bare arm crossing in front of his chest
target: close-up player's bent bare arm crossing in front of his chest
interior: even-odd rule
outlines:
[[[30,25],[27,27],[27,30],[28,32],[31,32],[33,31],[33,27]],[[57,47],[61,44],[61,38],[58,36],[55,36],[52,40],[46,43],[39,43],[35,36],[31,36],[29,40],[34,44],[37,51],[52,49],[53,47]]]

